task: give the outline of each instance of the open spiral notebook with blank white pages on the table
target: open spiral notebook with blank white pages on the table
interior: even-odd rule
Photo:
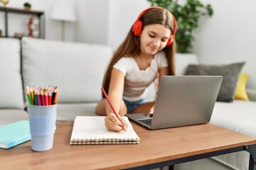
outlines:
[[[105,116],[76,116],[70,145],[138,144],[139,136],[126,116],[127,132],[110,132],[105,127]]]

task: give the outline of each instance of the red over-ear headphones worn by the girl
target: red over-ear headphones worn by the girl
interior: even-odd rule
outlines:
[[[132,26],[132,32],[134,33],[135,36],[139,36],[142,33],[142,21],[139,19],[143,16],[143,14],[148,11],[151,8],[161,8],[160,6],[151,6],[149,8],[146,8],[142,13],[139,14],[137,20],[135,21],[134,25]],[[174,16],[173,16],[174,18]],[[171,33],[171,36],[166,44],[166,46],[171,45],[174,42],[174,36],[176,34],[176,19],[174,18],[174,33]]]

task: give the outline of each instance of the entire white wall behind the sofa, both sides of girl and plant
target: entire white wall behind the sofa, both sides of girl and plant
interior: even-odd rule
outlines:
[[[11,0],[7,6],[22,8],[26,0]],[[54,1],[29,0],[34,10],[46,13],[46,39],[60,40],[60,22],[50,20]],[[112,45],[116,49],[126,37],[139,13],[149,6],[146,0],[72,0],[78,21],[66,23],[68,41]],[[202,18],[196,30],[194,53],[206,64],[246,61],[242,72],[250,74],[248,88],[256,89],[256,1],[201,0],[213,6],[212,18]],[[0,13],[0,29],[4,33],[4,14]],[[3,18],[3,19],[2,19]],[[26,30],[26,16],[10,17],[9,33]]]

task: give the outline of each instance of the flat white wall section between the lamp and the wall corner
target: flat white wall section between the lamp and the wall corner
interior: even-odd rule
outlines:
[[[75,40],[107,44],[109,0],[75,0],[78,21],[75,23]]]

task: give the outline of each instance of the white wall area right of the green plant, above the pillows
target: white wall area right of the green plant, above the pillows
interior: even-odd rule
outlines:
[[[202,0],[214,9],[196,30],[194,52],[206,64],[245,61],[242,72],[250,74],[247,88],[256,89],[256,1]]]

